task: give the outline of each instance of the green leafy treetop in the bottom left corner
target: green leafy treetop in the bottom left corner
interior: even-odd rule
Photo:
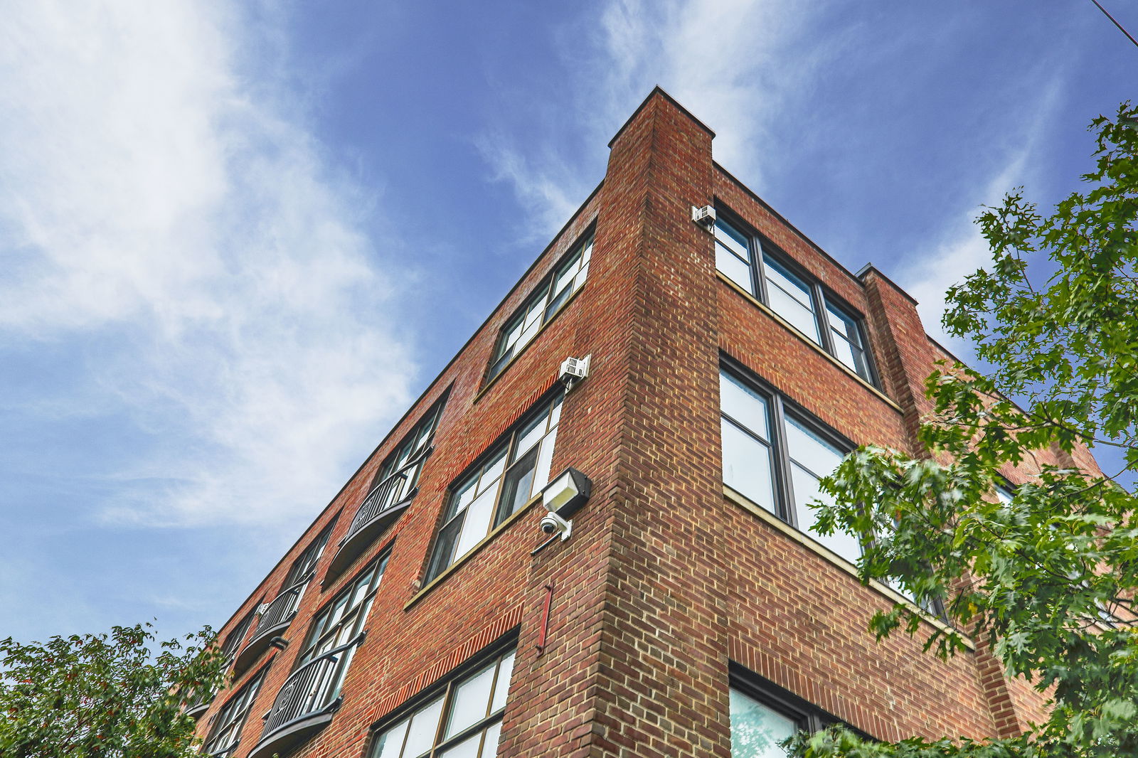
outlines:
[[[221,684],[224,661],[208,627],[155,641],[152,627],[0,641],[0,756],[197,756],[183,709]]]

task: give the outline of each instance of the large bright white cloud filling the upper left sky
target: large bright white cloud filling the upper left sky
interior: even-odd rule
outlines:
[[[0,343],[73,340],[71,412],[150,435],[110,518],[311,516],[407,401],[373,198],[244,57],[286,57],[264,30],[200,0],[30,0],[0,26]]]

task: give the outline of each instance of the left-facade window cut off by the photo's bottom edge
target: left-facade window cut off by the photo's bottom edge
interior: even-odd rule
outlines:
[[[493,758],[497,755],[513,651],[384,730],[371,758]]]

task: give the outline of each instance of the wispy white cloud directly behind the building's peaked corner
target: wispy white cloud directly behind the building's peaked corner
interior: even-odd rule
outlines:
[[[502,147],[520,140],[497,134],[481,141],[484,157],[533,214],[534,233],[549,234],[596,181],[582,168],[603,160],[608,139],[660,84],[716,130],[716,158],[756,182],[777,159],[756,146],[767,143],[784,101],[842,48],[840,33],[824,48],[807,34],[822,5],[803,10],[773,0],[611,0],[589,28],[589,43],[566,51],[574,85],[564,97],[577,104],[570,121],[582,139],[535,140],[580,142],[595,150],[594,159],[571,160],[563,147],[522,154]]]

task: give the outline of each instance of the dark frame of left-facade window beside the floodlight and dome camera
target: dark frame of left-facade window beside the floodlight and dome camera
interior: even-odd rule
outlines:
[[[424,585],[430,584],[438,577],[443,576],[444,574],[446,574],[447,569],[450,569],[452,566],[461,561],[464,555],[472,553],[475,549],[484,539],[493,535],[498,527],[501,527],[510,519],[510,517],[512,517],[514,513],[525,510],[525,505],[529,503],[531,500],[534,500],[535,492],[541,492],[541,487],[544,487],[546,484],[549,484],[549,479],[546,479],[546,481],[542,485],[537,485],[537,483],[531,479],[529,483],[529,489],[530,489],[529,496],[520,504],[514,502],[514,508],[509,512],[503,511],[503,503],[505,502],[503,500],[503,496],[508,488],[508,480],[510,478],[510,473],[518,468],[518,464],[521,461],[526,460],[530,455],[534,456],[534,465],[530,470],[536,472],[538,467],[541,465],[541,454],[543,452],[542,445],[551,435],[553,436],[553,443],[551,444],[550,448],[550,460],[549,460],[550,470],[547,471],[546,476],[551,477],[553,475],[553,467],[552,467],[553,455],[556,452],[556,435],[558,431],[560,431],[561,429],[562,413],[564,411],[564,397],[566,397],[566,390],[561,385],[556,385],[550,392],[543,394],[526,413],[519,417],[517,421],[511,423],[510,427],[505,429],[505,431],[495,437],[494,442],[487,445],[486,448],[478,454],[478,458],[471,461],[471,463],[467,465],[467,468],[463,469],[457,477],[454,478],[454,480],[450,484],[450,486],[447,486],[446,496],[443,499],[443,509],[439,512],[438,522],[436,524],[435,527],[434,538],[431,539],[431,549],[428,553],[427,563],[423,569]],[[550,420],[553,417],[554,407],[556,407],[556,423],[550,425]],[[545,419],[545,431],[542,432],[541,438],[536,443],[534,443],[533,446],[527,448],[523,455],[516,458],[518,453],[518,440],[519,437],[521,436],[521,431],[526,430],[534,421],[543,418]],[[502,452],[503,450],[504,452]],[[457,545],[463,534],[462,527],[465,525],[467,514],[469,513],[469,510],[473,505],[475,501],[477,501],[478,497],[481,497],[484,494],[489,492],[489,488],[484,489],[481,492],[477,492],[479,484],[478,479],[486,473],[487,463],[496,462],[498,460],[503,461],[503,465],[502,465],[502,471],[496,476],[496,478],[494,479],[494,484],[492,485],[494,489],[494,499],[493,499],[493,504],[490,505],[492,514],[490,514],[489,526],[487,527],[486,534],[484,534],[477,542],[475,542],[465,552],[459,553]],[[475,487],[476,489],[476,494],[473,495],[472,500],[469,503],[467,503],[467,505],[463,506],[461,510],[455,510],[454,513],[448,514],[452,505],[455,505],[455,503],[457,502],[456,499],[467,492],[468,488],[463,487],[463,485],[465,485],[472,477],[475,478],[475,484],[471,486]],[[448,552],[451,553],[450,558],[446,561],[446,563],[440,563],[439,560],[442,553],[439,552],[439,550],[444,543],[439,537],[443,534],[444,529],[447,529],[452,524],[454,524],[455,520],[460,518],[460,516],[462,517],[463,521],[457,527],[456,529],[457,534],[454,536],[450,547],[447,549]]]

